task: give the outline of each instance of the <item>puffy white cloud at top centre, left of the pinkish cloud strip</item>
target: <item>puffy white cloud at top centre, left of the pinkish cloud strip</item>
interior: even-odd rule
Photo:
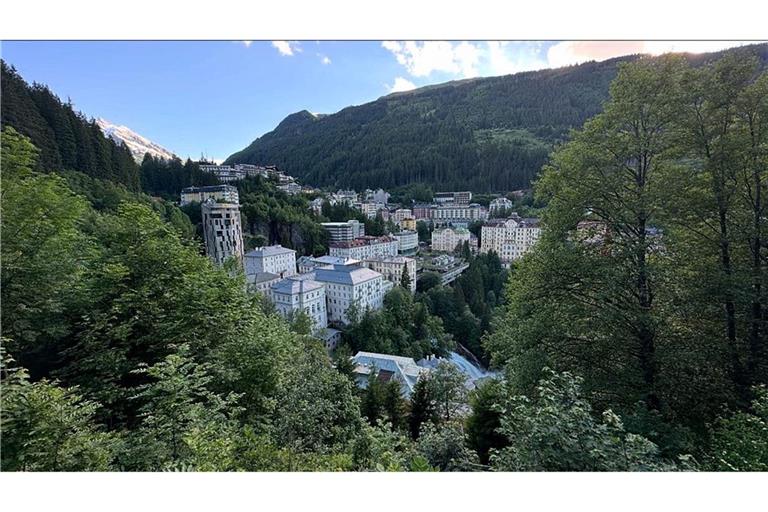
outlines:
[[[384,41],[381,46],[395,55],[412,76],[429,76],[434,71],[472,77],[479,74],[480,52],[468,42]]]

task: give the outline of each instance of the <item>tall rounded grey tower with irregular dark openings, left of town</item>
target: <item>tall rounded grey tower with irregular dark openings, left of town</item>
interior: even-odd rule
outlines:
[[[217,203],[208,199],[201,206],[205,252],[216,265],[229,258],[243,263],[243,228],[240,224],[240,205]]]

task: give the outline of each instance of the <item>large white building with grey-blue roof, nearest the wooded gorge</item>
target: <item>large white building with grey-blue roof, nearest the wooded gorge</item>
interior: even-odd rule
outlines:
[[[348,323],[352,304],[361,313],[384,305],[384,278],[378,272],[356,265],[334,265],[315,270],[315,281],[325,285],[328,320]]]

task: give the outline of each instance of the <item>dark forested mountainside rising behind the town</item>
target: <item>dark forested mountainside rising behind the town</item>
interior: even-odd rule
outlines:
[[[765,44],[727,51],[768,61]],[[297,112],[225,163],[277,164],[318,186],[527,187],[554,145],[600,112],[619,63],[636,58],[432,85],[326,116]]]

